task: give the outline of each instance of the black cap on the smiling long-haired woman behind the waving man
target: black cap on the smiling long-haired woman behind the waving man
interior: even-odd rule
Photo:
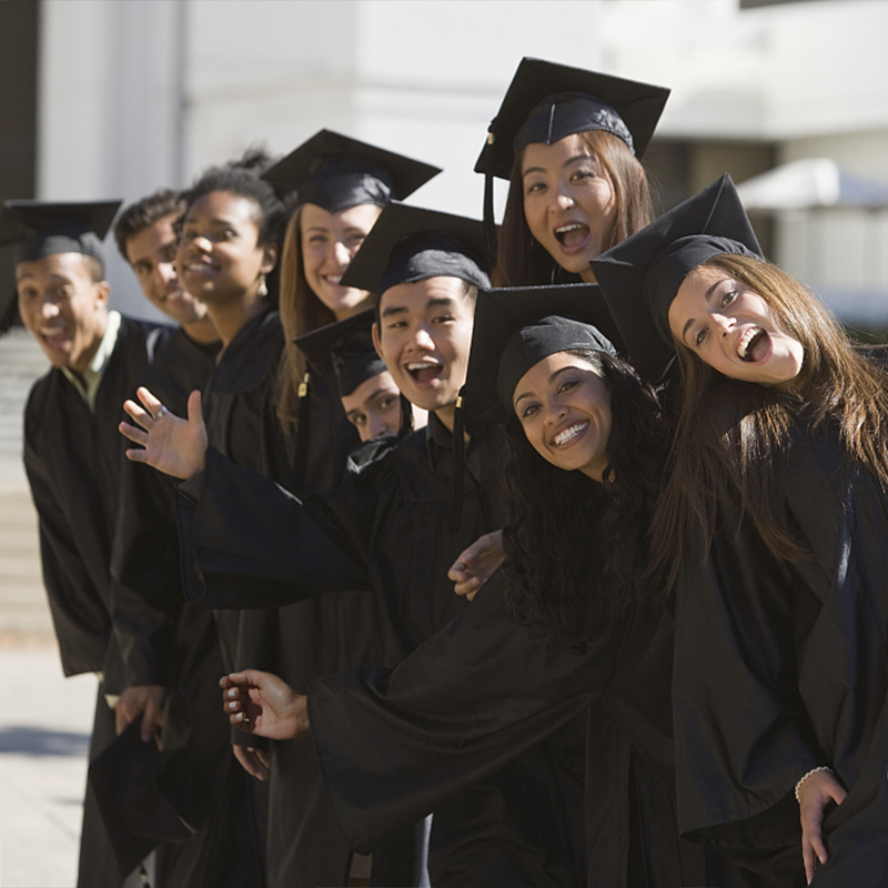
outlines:
[[[336,213],[363,204],[385,206],[392,198],[404,200],[440,172],[440,167],[321,130],[262,178],[280,189],[296,190],[300,203]]]

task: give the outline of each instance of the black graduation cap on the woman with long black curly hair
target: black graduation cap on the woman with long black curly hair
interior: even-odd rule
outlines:
[[[504,422],[515,385],[544,357],[568,349],[615,355],[615,342],[616,325],[594,283],[478,290],[463,422]]]

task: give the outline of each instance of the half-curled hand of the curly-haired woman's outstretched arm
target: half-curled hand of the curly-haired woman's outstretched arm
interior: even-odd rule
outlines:
[[[282,678],[259,669],[224,675],[219,682],[225,715],[233,727],[272,740],[307,737],[307,697]]]

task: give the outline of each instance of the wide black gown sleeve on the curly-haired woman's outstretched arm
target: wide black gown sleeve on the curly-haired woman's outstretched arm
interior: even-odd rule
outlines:
[[[309,717],[327,797],[349,842],[370,849],[502,767],[639,662],[659,629],[645,610],[574,649],[506,612],[495,574],[468,609],[396,669],[314,682]]]

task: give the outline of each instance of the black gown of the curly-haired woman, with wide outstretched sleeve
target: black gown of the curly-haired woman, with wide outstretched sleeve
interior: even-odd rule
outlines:
[[[315,682],[312,736],[331,803],[356,846],[501,767],[587,705],[586,885],[715,885],[678,838],[669,682],[672,615],[602,609],[579,650],[508,615],[502,575],[394,672]]]

